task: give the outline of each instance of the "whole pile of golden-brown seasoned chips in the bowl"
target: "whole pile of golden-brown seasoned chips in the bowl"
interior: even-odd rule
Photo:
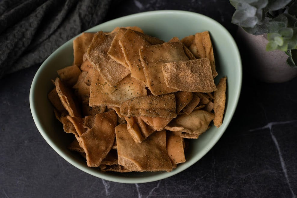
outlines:
[[[69,149],[102,171],[171,171],[187,138],[222,125],[226,77],[217,76],[209,32],[169,42],[138,27],[83,33],[74,63],[48,94]]]

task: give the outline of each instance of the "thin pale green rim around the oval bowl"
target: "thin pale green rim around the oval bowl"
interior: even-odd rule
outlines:
[[[190,12],[190,11],[183,11],[183,10],[154,10],[154,11],[147,11],[147,12],[142,12],[142,13],[136,13],[136,14],[131,14],[131,15],[127,15],[127,16],[122,16],[122,17],[119,17],[119,18],[116,18],[116,19],[112,19],[112,20],[109,20],[109,21],[106,21],[104,23],[101,23],[99,25],[96,25],[96,26],[100,26],[102,24],[105,24],[105,23],[110,23],[110,22],[113,22],[113,21],[117,21],[117,20],[121,20],[121,19],[129,19],[129,18],[134,18],[134,17],[137,17],[137,16],[152,16],[152,15],[155,15],[155,14],[186,14],[186,15],[192,15],[192,16],[199,16],[200,18],[205,18],[213,23],[216,23],[217,26],[220,27],[220,29],[222,29],[224,31],[224,33],[226,34],[227,37],[230,38],[230,41],[231,41],[231,45],[234,47],[234,52],[237,54],[237,56],[235,57],[236,58],[236,62],[237,62],[237,65],[239,66],[238,68],[238,72],[239,72],[239,76],[238,76],[238,83],[237,83],[237,92],[235,94],[235,103],[234,105],[232,106],[231,108],[231,111],[230,111],[230,119],[229,120],[226,120],[225,122],[227,122],[224,126],[221,126],[223,127],[222,128],[222,132],[216,136],[216,139],[212,140],[208,145],[207,145],[207,148],[202,150],[201,151],[201,154],[198,155],[198,156],[194,156],[194,158],[192,158],[191,160],[189,160],[189,163],[187,164],[187,166],[182,166],[182,167],[179,167],[179,169],[175,169],[171,172],[164,172],[164,174],[159,174],[159,175],[153,175],[153,176],[146,176],[146,177],[141,177],[141,178],[123,178],[123,177],[118,177],[118,176],[109,176],[109,175],[105,175],[104,173],[99,173],[98,172],[96,173],[96,171],[93,171],[93,170],[90,170],[88,167],[85,167],[85,166],[82,166],[80,164],[77,164],[75,161],[73,161],[68,155],[66,155],[65,153],[63,153],[63,151],[61,151],[56,145],[55,143],[49,138],[49,136],[47,135],[46,133],[46,129],[44,129],[42,126],[41,126],[41,123],[38,119],[38,116],[37,116],[37,113],[36,113],[36,109],[37,107],[35,106],[35,103],[34,103],[34,90],[35,88],[37,87],[37,79],[38,79],[38,76],[42,73],[42,70],[43,68],[45,68],[47,66],[47,62],[49,62],[49,60],[51,60],[51,58],[57,54],[60,50],[60,48],[62,48],[63,46],[66,46],[68,41],[66,41],[63,45],[61,45],[60,47],[58,47],[51,55],[49,55],[46,60],[41,64],[41,66],[38,68],[37,72],[35,73],[35,76],[32,80],[32,84],[31,84],[31,88],[30,88],[30,93],[29,93],[29,104],[30,104],[30,110],[31,110],[31,113],[32,113],[32,117],[33,117],[33,120],[35,122],[35,125],[38,129],[38,131],[40,132],[41,136],[44,138],[44,140],[51,146],[52,149],[54,149],[55,152],[57,152],[62,158],[64,158],[67,162],[69,162],[70,164],[72,164],[74,167],[90,174],[90,175],[93,175],[93,176],[96,176],[98,178],[101,178],[101,179],[105,179],[105,180],[108,180],[108,181],[112,181],[112,182],[118,182],[118,183],[127,183],[127,184],[133,184],[133,183],[147,183],[147,182],[154,182],[154,181],[158,181],[158,180],[161,180],[161,179],[165,179],[165,178],[168,178],[170,176],[173,176],[177,173],[180,173],[182,171],[184,171],[185,169],[191,167],[193,164],[195,164],[197,161],[199,161],[204,155],[206,155],[209,150],[211,148],[213,148],[213,146],[219,141],[219,139],[222,137],[222,134],[224,134],[226,128],[228,127],[232,117],[234,116],[234,112],[236,110],[236,107],[237,107],[237,104],[238,104],[238,100],[239,100],[239,96],[240,96],[240,91],[241,91],[241,85],[242,85],[242,63],[241,63],[241,57],[240,57],[240,53],[239,53],[239,50],[238,50],[238,47],[237,47],[237,44],[236,42],[234,41],[234,38],[231,36],[231,34],[228,32],[227,29],[225,29],[224,26],[222,26],[219,22],[217,22],[216,20],[208,17],[208,16],[205,16],[203,14],[200,14],[200,13],[194,13],[194,12]],[[91,31],[91,29],[95,28],[96,26],[84,31],[84,32],[88,32],[88,31]],[[75,37],[81,35],[78,34],[76,35]],[[72,39],[70,39],[69,41],[73,40],[75,37],[73,37]]]

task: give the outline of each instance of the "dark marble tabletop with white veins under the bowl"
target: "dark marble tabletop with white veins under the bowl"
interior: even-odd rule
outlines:
[[[116,1],[103,21],[163,9],[210,16],[235,37],[229,1]],[[245,49],[240,52],[242,91],[222,138],[187,170],[144,184],[109,182],[66,162],[30,113],[29,90],[40,64],[6,75],[0,79],[0,197],[296,197],[297,78],[260,82],[249,73]]]

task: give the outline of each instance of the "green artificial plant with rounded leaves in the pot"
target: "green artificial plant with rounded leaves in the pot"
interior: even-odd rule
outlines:
[[[230,0],[232,23],[253,35],[267,33],[267,51],[281,50],[297,68],[297,0]]]

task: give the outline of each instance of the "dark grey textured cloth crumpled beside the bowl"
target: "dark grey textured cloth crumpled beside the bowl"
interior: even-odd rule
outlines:
[[[101,22],[111,0],[0,1],[0,78],[42,63],[75,35]]]

